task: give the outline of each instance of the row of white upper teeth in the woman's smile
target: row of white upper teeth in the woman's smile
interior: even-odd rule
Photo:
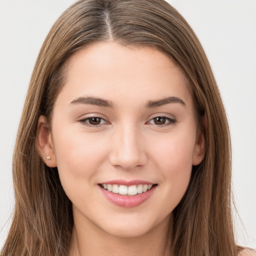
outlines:
[[[131,185],[131,186],[125,186],[125,185],[117,185],[117,184],[102,184],[104,189],[107,191],[113,192],[113,193],[119,193],[119,194],[128,194],[128,195],[135,195],[135,194],[140,194],[143,192],[146,192],[150,188],[152,188],[152,184],[150,185]]]

